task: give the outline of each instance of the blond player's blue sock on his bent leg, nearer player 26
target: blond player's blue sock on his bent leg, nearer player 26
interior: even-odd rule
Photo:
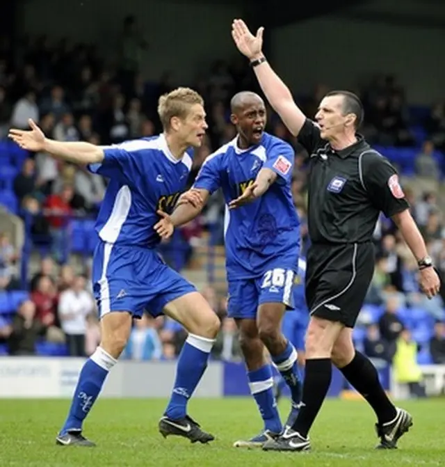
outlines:
[[[215,340],[189,334],[181,349],[176,370],[175,386],[164,415],[172,420],[184,418],[190,399],[207,367]]]

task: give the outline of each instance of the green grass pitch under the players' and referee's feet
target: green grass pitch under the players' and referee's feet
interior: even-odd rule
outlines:
[[[190,413],[216,435],[210,445],[184,438],[163,439],[157,422],[161,399],[102,399],[85,425],[98,447],[56,446],[54,437],[69,405],[67,400],[0,400],[0,466],[74,467],[248,467],[248,466],[441,466],[445,464],[444,401],[404,403],[414,427],[399,449],[376,451],[374,416],[364,402],[328,400],[311,433],[312,452],[273,453],[232,448],[259,432],[261,422],[249,399],[197,399]],[[289,402],[280,402],[286,415]]]

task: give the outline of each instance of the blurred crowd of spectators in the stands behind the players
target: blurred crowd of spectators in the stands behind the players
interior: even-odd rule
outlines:
[[[131,19],[125,27],[127,32],[131,31]],[[10,126],[26,128],[30,117],[47,136],[60,141],[108,144],[152,136],[161,131],[156,115],[159,96],[178,85],[198,90],[206,102],[209,131],[202,148],[195,151],[189,184],[204,159],[235,136],[229,121],[230,97],[238,90],[257,90],[251,70],[238,58],[211,63],[191,83],[175,81],[170,72],[165,72],[159,82],[152,82],[145,80],[137,66],[126,68],[123,61],[118,61],[114,68],[106,66],[94,46],[70,44],[67,40],[51,43],[45,36],[29,38],[22,43],[19,58],[13,61],[8,51],[1,49],[2,43],[0,40],[0,138],[6,136]],[[308,116],[314,116],[328,89],[318,85],[312,95],[297,97]],[[442,154],[445,102],[434,103],[430,110],[423,109],[423,117],[416,119],[409,96],[396,77],[382,74],[370,77],[357,91],[365,106],[362,131],[366,138],[391,150],[412,149],[414,174],[408,175],[413,180],[416,177],[430,180],[431,187],[437,186],[434,183],[442,179],[445,167]],[[267,129],[289,141],[296,151],[292,190],[302,222],[304,254],[309,242],[305,207],[307,154],[270,109]],[[12,320],[0,315],[0,342],[8,345],[10,354],[34,354],[44,339],[54,345],[64,343],[70,355],[88,355],[99,339],[89,268],[86,266],[81,274],[74,271],[70,255],[64,255],[63,248],[67,244],[70,216],[93,218],[104,196],[106,180],[84,168],[60,163],[45,153],[23,155],[15,170],[10,183],[6,181],[1,189],[8,186],[13,193],[18,216],[23,219],[31,216],[26,233],[31,235],[33,250],[40,251],[44,258],[39,274],[31,280],[29,299],[19,304]],[[421,196],[410,188],[405,191],[435,264],[444,274],[445,227],[438,195],[434,190],[423,191]],[[181,230],[181,240],[188,246],[181,262],[184,267],[193,258],[194,249],[208,241],[209,230],[213,241],[223,244],[223,213],[223,199],[216,193],[202,216]],[[6,233],[0,235],[0,290],[23,288],[18,269],[23,253],[13,243]],[[434,363],[445,363],[444,290],[431,301],[425,299],[416,283],[412,256],[394,225],[383,217],[375,230],[375,246],[375,275],[366,304],[379,309],[380,315],[366,317],[364,308],[360,324],[365,331],[360,342],[365,351],[383,361],[393,361],[401,340],[411,342],[420,335],[417,323],[404,320],[403,310],[421,308],[423,321],[430,317],[430,332],[421,340],[414,339],[416,349],[428,347]],[[225,297],[216,296],[212,287],[204,290],[204,294],[224,319]],[[175,358],[182,342],[184,331],[180,326],[169,319],[145,317],[136,323],[125,356]],[[225,319],[214,356],[240,358],[236,342],[236,326]]]

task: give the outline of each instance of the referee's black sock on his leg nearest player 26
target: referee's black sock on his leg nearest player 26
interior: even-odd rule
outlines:
[[[326,397],[331,377],[332,363],[330,358],[306,361],[301,408],[297,420],[292,425],[292,429],[305,438]]]

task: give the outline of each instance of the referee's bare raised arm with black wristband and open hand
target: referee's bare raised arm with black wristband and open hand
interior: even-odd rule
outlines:
[[[263,31],[264,28],[259,28],[257,35],[253,35],[242,19],[234,19],[232,24],[232,38],[236,47],[241,54],[249,58],[268,102],[280,115],[293,136],[298,136],[306,116],[296,105],[289,88],[266,61],[262,52]]]

